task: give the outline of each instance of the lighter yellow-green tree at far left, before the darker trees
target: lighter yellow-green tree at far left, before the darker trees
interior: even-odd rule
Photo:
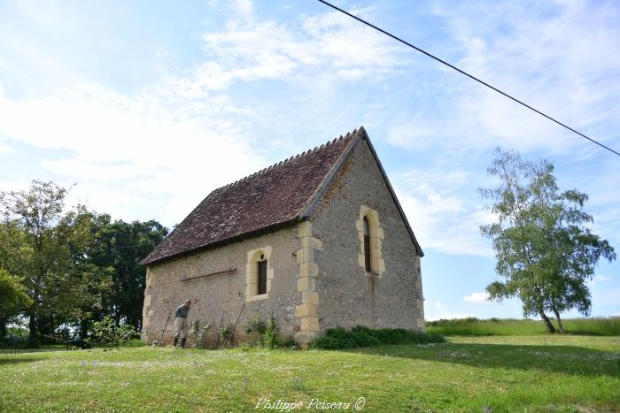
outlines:
[[[26,191],[0,192],[0,266],[27,287],[31,343],[80,317],[90,299],[81,261],[93,216],[83,206],[66,211],[66,195],[66,188],[38,180]]]

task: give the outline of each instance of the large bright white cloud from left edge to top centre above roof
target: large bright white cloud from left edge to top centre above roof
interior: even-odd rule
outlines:
[[[0,136],[54,149],[42,166],[78,182],[74,199],[116,217],[152,216],[170,225],[214,187],[275,160],[267,160],[268,139],[252,133],[267,104],[236,103],[223,93],[231,84],[285,80],[321,93],[300,79],[313,73],[330,79],[334,72],[360,79],[398,65],[384,36],[337,13],[281,24],[249,19],[251,1],[232,6],[236,16],[225,29],[203,37],[208,59],[130,93],[90,80],[24,40],[19,50],[49,60],[36,66],[53,67],[43,71],[46,83],[61,86],[35,98],[0,89]],[[0,154],[9,151],[0,147]]]

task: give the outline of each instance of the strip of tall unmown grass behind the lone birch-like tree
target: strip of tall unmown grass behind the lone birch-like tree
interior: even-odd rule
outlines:
[[[563,320],[569,334],[620,335],[620,317],[613,318],[570,318]],[[557,328],[557,324],[554,323]],[[540,320],[515,318],[476,317],[455,318],[426,322],[427,333],[444,335],[536,335],[546,334],[546,326]]]

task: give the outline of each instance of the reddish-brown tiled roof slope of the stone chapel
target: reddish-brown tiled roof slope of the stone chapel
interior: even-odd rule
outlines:
[[[339,161],[366,132],[363,127],[320,147],[213,190],[141,264],[204,249],[300,218]]]

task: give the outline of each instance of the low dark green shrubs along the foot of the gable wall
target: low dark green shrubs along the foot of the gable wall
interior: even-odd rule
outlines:
[[[344,327],[330,328],[323,337],[314,340],[310,348],[336,350],[343,348],[359,348],[382,346],[384,344],[403,343],[441,343],[444,337],[436,333],[422,333],[403,328],[372,329],[357,325],[351,330]]]

